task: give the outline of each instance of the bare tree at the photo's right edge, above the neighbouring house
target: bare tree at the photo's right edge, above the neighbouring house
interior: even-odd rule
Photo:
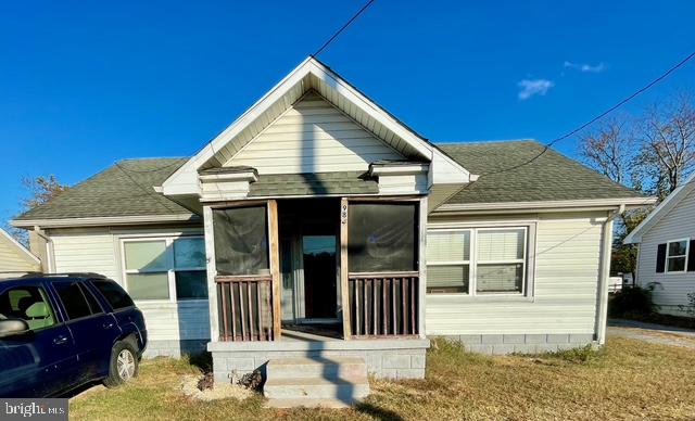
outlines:
[[[652,106],[640,125],[643,177],[660,199],[695,169],[695,106],[687,94]]]

